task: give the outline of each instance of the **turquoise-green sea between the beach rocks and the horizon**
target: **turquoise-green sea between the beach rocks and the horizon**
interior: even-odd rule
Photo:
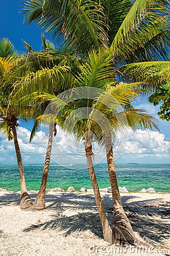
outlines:
[[[24,165],[27,189],[39,190],[41,185],[43,164]],[[107,164],[96,164],[95,173],[100,188],[110,186]],[[170,192],[170,164],[116,164],[119,187],[126,187],[129,192],[154,188],[156,192]],[[86,164],[59,166],[51,164],[49,168],[47,188],[69,186],[79,191],[80,188],[92,188]],[[19,170],[17,165],[0,164],[0,187],[10,191],[20,190]]]

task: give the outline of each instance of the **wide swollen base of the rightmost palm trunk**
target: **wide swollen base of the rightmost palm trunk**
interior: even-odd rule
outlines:
[[[123,209],[119,208],[114,211],[111,228],[113,230],[114,243],[128,242],[134,244],[135,235]]]

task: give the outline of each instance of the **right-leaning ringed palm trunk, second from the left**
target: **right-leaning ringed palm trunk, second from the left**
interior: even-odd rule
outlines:
[[[50,123],[49,127],[49,137],[48,137],[48,147],[45,156],[45,163],[44,169],[42,174],[42,181],[39,193],[36,197],[35,203],[33,204],[33,209],[45,209],[45,190],[46,190],[46,183],[48,179],[48,172],[49,172],[49,164],[50,164],[50,156],[52,153],[52,144],[53,144],[53,122]]]

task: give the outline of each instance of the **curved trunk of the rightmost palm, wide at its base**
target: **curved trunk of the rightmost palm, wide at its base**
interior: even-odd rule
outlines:
[[[128,241],[133,243],[135,241],[135,236],[133,229],[131,228],[130,222],[124,212],[121,203],[120,192],[118,190],[116,170],[114,167],[113,158],[113,148],[111,134],[105,137],[105,146],[107,151],[107,163],[109,179],[111,181],[112,197],[113,197],[113,220],[112,220],[112,230],[116,242]]]

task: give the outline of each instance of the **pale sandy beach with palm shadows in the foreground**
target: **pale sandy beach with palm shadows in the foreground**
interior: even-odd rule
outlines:
[[[111,194],[101,195],[111,222]],[[121,193],[121,199],[137,247],[104,242],[93,193],[49,192],[48,208],[33,212],[20,209],[18,193],[1,191],[0,255],[170,255],[170,195]]]

